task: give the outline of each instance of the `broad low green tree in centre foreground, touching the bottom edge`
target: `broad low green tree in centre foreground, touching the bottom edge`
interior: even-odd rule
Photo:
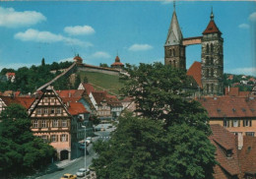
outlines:
[[[160,120],[120,117],[108,142],[97,142],[97,178],[210,179],[215,147],[204,132],[186,124],[164,129]]]

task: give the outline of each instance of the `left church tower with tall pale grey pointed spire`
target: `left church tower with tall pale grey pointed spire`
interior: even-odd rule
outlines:
[[[183,36],[178,25],[174,4],[172,19],[164,44],[164,65],[186,70],[185,46],[182,45],[182,40]]]

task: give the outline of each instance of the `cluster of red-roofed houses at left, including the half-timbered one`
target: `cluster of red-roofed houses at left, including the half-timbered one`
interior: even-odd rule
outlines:
[[[79,142],[85,138],[85,126],[87,135],[93,135],[90,116],[110,120],[123,110],[122,102],[116,96],[96,91],[91,84],[81,84],[79,89],[68,90],[55,90],[48,86],[28,96],[0,96],[0,112],[12,103],[27,109],[33,135],[49,142],[57,150],[60,160],[84,153],[79,149]]]

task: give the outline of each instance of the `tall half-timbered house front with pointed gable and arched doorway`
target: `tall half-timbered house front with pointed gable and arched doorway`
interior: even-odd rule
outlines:
[[[34,136],[44,141],[57,150],[58,158],[71,159],[72,115],[52,87],[42,90],[40,96],[34,100],[29,115],[32,120]]]

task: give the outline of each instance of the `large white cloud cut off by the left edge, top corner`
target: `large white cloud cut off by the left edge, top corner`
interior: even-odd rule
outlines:
[[[13,8],[0,7],[0,27],[27,27],[42,21],[46,21],[46,18],[41,13],[35,11],[17,12]]]

